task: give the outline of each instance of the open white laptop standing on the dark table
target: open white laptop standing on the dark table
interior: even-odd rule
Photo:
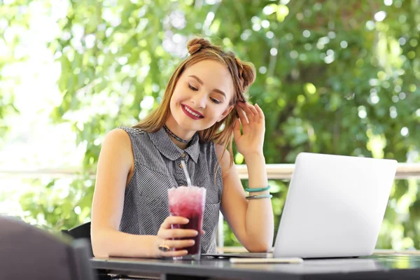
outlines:
[[[372,255],[397,162],[300,153],[281,214],[274,253],[225,258],[342,258]]]

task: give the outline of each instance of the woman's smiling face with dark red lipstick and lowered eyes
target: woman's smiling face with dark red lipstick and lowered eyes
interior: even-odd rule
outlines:
[[[212,60],[188,67],[176,83],[170,109],[183,130],[205,130],[232,111],[234,92],[228,68]]]

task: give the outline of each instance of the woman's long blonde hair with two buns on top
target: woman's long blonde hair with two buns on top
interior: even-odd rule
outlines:
[[[212,45],[204,38],[193,38],[187,43],[187,48],[190,55],[184,59],[183,62],[176,67],[174,73],[172,73],[172,76],[167,84],[162,103],[158,109],[144,118],[144,120],[141,120],[139,124],[134,125],[134,127],[138,127],[146,132],[156,132],[160,130],[163,125],[165,125],[167,118],[169,117],[169,104],[179,77],[181,77],[183,71],[185,71],[189,66],[203,60],[214,60],[228,67],[235,88],[235,92],[229,102],[229,106],[237,104],[238,101],[246,101],[244,93],[255,80],[255,68],[252,63],[242,62],[239,58],[235,57],[233,52],[225,52],[221,47]],[[233,127],[237,118],[238,113],[234,106],[232,111],[230,111],[228,116],[226,116],[223,120],[215,123],[206,130],[199,132],[200,141],[213,141],[215,144],[225,147],[225,150],[228,148],[228,151],[230,152],[230,167],[233,165]],[[219,132],[222,125],[225,125],[225,127]],[[225,153],[225,150],[223,151],[223,154]],[[217,168],[218,166],[215,170],[215,176]]]

